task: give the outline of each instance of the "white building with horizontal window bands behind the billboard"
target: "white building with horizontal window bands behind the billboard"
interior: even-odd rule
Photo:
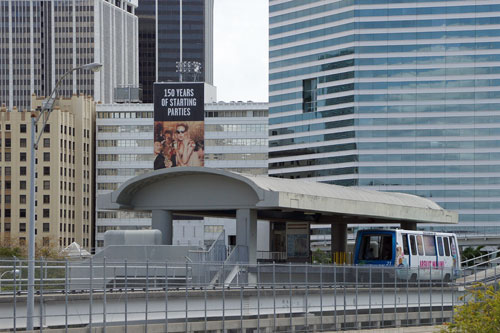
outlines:
[[[207,100],[210,97],[206,98]],[[267,103],[205,104],[205,165],[250,174],[267,173]],[[153,170],[153,104],[98,104],[96,195]],[[107,230],[151,227],[150,212],[96,211],[97,249]],[[234,241],[234,220],[174,221],[175,245],[203,246],[222,230]],[[233,242],[234,243],[234,242]]]

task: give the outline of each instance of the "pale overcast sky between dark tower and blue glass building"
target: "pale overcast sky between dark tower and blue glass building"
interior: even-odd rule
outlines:
[[[268,101],[268,0],[215,0],[214,85],[219,101]]]

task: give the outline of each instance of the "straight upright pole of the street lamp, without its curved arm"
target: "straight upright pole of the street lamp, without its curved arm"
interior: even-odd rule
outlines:
[[[30,144],[30,221],[28,236],[28,295],[26,298],[26,330],[33,330],[33,312],[35,308],[35,122],[36,115],[31,114]]]

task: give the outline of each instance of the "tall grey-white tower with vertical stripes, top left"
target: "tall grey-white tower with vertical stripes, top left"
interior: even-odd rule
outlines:
[[[67,71],[102,63],[99,73],[73,72],[59,94],[111,103],[113,88],[137,86],[138,19],[133,1],[0,0],[0,105],[31,109]]]

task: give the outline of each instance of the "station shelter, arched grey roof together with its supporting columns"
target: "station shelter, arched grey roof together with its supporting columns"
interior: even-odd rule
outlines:
[[[172,244],[174,214],[235,218],[236,246],[247,249],[250,263],[256,262],[257,220],[330,224],[332,255],[345,253],[348,224],[398,224],[416,229],[417,223],[458,222],[456,212],[414,195],[203,167],[161,169],[137,176],[100,196],[98,206],[152,211],[152,227],[162,231],[163,244]],[[309,253],[309,235],[297,232],[293,236],[287,238],[288,246]]]

